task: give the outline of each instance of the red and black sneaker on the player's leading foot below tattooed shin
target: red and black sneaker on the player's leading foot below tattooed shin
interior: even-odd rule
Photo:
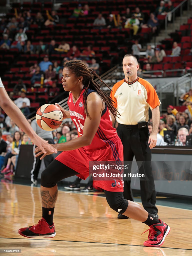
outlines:
[[[44,218],[40,219],[37,225],[30,226],[28,228],[20,228],[18,233],[23,237],[46,237],[52,238],[56,236],[54,223],[49,226]]]

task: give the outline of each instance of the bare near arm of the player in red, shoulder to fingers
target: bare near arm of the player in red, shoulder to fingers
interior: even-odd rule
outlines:
[[[53,147],[55,147],[58,151],[68,151],[90,145],[95,133],[98,130],[103,107],[104,105],[102,104],[102,100],[96,93],[89,94],[87,97],[87,110],[89,117],[86,117],[85,119],[83,135],[74,140],[53,145]],[[40,151],[38,147],[36,148],[35,152],[36,157],[42,155],[42,151]],[[49,154],[50,152],[47,152],[46,154],[42,155],[40,159]]]

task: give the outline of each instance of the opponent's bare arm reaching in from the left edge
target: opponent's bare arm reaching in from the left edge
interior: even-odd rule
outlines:
[[[38,145],[44,153],[45,150],[50,150],[52,153],[57,153],[57,150],[53,148],[47,141],[40,138],[31,128],[27,119],[20,111],[20,109],[10,100],[0,77],[0,106],[5,111],[5,113],[10,117],[10,119],[15,122],[19,128],[21,128],[33,141],[35,145]]]

